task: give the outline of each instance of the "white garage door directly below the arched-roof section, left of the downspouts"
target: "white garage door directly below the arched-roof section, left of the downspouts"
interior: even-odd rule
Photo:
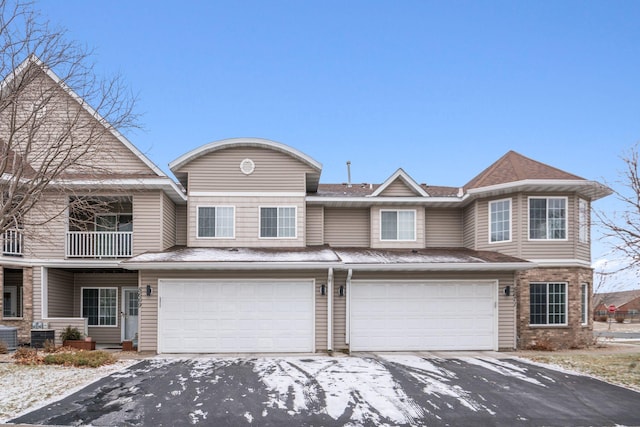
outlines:
[[[312,352],[312,281],[160,280],[158,352]]]

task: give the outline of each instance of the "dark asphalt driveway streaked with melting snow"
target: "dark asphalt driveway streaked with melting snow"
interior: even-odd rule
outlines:
[[[20,418],[48,425],[640,425],[640,393],[520,359],[150,359]]]

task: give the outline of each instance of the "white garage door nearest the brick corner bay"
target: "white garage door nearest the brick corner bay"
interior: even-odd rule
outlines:
[[[497,350],[495,282],[360,282],[352,351]]]

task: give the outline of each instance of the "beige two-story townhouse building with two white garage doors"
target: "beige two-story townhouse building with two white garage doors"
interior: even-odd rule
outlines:
[[[597,182],[509,152],[463,187],[402,169],[321,184],[295,148],[236,138],[173,161],[177,185],[121,135],[105,149],[118,179],[78,188],[113,212],[85,231],[69,212],[0,258],[0,323],[22,340],[43,321],[159,353],[591,342],[590,206],[611,193]]]

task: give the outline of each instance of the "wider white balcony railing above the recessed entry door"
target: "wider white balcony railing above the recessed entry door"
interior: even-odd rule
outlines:
[[[126,258],[133,249],[131,231],[68,231],[68,258]]]

